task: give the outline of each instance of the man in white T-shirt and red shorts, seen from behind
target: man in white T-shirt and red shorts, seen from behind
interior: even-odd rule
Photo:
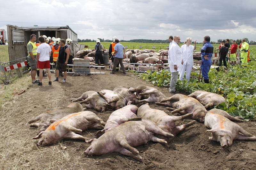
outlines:
[[[52,54],[52,49],[49,46],[49,44],[46,44],[44,42],[44,37],[40,36],[38,38],[39,43],[41,44],[40,46],[37,47],[36,50],[36,58],[37,58],[37,64],[39,67],[39,86],[43,86],[42,79],[43,79],[43,70],[46,68],[48,78],[49,78],[49,85],[52,85],[52,75],[50,71],[50,56]]]

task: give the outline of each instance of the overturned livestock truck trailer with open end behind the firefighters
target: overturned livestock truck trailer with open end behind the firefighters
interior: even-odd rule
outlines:
[[[8,33],[9,60],[17,60],[28,55],[27,44],[30,35],[55,37],[61,39],[72,39],[71,53],[75,56],[76,52],[84,49],[84,45],[77,44],[77,34],[68,25],[66,26],[42,26],[42,27],[18,27],[6,25]]]

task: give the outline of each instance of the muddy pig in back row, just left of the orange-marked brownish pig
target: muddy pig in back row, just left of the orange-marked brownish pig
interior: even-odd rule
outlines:
[[[135,91],[136,91],[136,95],[140,97],[140,100],[136,101],[136,103],[142,103],[142,102],[155,103],[161,100],[168,99],[166,96],[164,96],[163,93],[161,93],[159,90],[153,87],[140,85],[137,88],[135,88]]]

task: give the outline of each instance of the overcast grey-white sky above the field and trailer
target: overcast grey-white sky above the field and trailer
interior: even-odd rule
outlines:
[[[168,39],[179,35],[202,42],[256,41],[256,1],[246,0],[20,0],[2,1],[6,25],[69,25],[79,39]],[[32,16],[34,14],[35,16]]]

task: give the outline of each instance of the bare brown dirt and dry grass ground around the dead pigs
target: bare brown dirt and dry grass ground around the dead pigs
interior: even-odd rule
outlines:
[[[54,75],[52,74],[52,79]],[[5,103],[0,117],[0,169],[256,169],[256,142],[234,141],[227,149],[220,143],[208,140],[204,124],[196,123],[178,135],[169,147],[149,142],[136,147],[140,151],[142,162],[119,153],[85,157],[83,152],[89,146],[83,141],[61,141],[43,148],[35,145],[38,140],[36,128],[27,122],[47,110],[68,105],[87,90],[113,90],[117,85],[136,87],[151,84],[137,78],[133,73],[126,75],[106,74],[92,76],[68,76],[67,82],[53,82],[48,85],[44,78],[43,86],[33,84],[20,96]],[[166,96],[171,96],[167,88],[158,88]],[[139,106],[139,105],[138,105]],[[164,110],[162,106],[150,104],[150,107]],[[95,112],[105,122],[111,111]],[[178,125],[191,120],[177,122]],[[256,123],[238,123],[246,131],[256,135]],[[93,138],[96,130],[87,130],[82,135]],[[66,146],[61,150],[60,146]]]

